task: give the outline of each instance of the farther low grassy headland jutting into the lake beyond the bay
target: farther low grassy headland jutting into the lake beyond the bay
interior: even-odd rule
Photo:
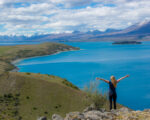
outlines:
[[[59,43],[43,43],[37,45],[0,46],[0,74],[15,68],[12,61],[27,57],[50,55],[60,51],[78,50],[72,46]]]

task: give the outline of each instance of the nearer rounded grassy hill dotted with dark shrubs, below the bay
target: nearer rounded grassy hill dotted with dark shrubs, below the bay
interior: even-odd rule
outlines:
[[[0,115],[6,118],[35,120],[38,116],[50,117],[54,113],[65,115],[85,108],[83,92],[64,84],[66,80],[52,75],[7,72],[0,77]],[[8,97],[9,96],[9,97]],[[11,98],[17,98],[11,99]],[[16,116],[14,116],[17,113]]]

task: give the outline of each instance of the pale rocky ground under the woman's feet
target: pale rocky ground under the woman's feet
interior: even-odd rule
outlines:
[[[128,108],[121,108],[106,111],[105,109],[94,110],[88,107],[83,112],[70,112],[66,114],[64,119],[53,115],[52,120],[150,120],[150,110],[132,111]]]

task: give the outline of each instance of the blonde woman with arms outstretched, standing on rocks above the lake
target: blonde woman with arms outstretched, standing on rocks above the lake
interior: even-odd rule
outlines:
[[[119,83],[122,79],[129,77],[129,75],[126,75],[118,80],[115,79],[115,76],[111,76],[110,80],[105,80],[103,78],[96,78],[97,80],[102,80],[109,84],[109,103],[110,103],[110,110],[112,109],[112,100],[114,101],[114,109],[116,109],[116,99],[117,99],[117,93],[116,93],[116,87],[117,83]]]

